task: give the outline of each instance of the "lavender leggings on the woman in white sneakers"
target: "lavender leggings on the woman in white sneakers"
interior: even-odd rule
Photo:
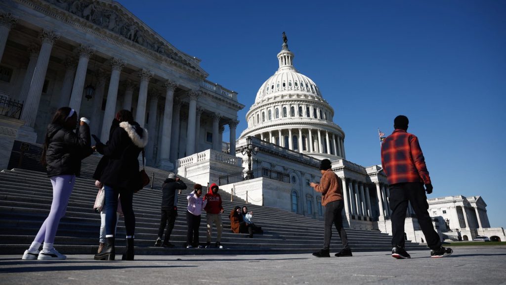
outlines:
[[[36,242],[54,243],[56,230],[60,224],[60,219],[67,211],[68,199],[74,188],[75,175],[58,175],[51,177],[53,184],[53,202],[51,203],[51,211],[44,224],[38,230],[35,236]]]

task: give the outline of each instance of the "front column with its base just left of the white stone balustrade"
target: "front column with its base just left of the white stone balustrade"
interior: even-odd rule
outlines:
[[[172,113],[174,104],[174,90],[178,87],[175,81],[167,80],[165,87],[165,106],[163,109],[163,121],[161,125],[161,146],[160,161],[158,166],[164,170],[172,170],[174,164],[171,162],[171,134],[172,134]]]

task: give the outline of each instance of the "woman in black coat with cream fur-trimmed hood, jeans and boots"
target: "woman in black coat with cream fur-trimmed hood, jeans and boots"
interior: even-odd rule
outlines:
[[[124,215],[126,230],[126,251],[122,259],[134,260],[135,215],[132,207],[134,191],[142,188],[139,174],[139,154],[148,143],[148,132],[137,122],[132,113],[121,110],[116,113],[119,127],[114,129],[107,144],[97,142],[97,151],[108,157],[107,166],[99,179],[105,189],[105,232],[106,245],[95,260],[114,260],[114,226],[118,196]],[[121,194],[121,195],[120,195]]]

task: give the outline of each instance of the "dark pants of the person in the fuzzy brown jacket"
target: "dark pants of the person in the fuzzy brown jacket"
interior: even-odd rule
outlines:
[[[349,248],[348,236],[343,228],[343,200],[337,200],[325,205],[325,225],[323,234],[323,249],[328,250],[330,248],[330,238],[332,238],[332,224],[335,225],[335,229],[338,230],[341,242],[343,242],[343,248]]]

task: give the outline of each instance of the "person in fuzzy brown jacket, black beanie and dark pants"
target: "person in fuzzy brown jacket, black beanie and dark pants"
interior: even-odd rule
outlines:
[[[343,249],[336,253],[336,257],[352,256],[351,248],[348,245],[348,237],[343,228],[343,215],[344,208],[343,190],[339,183],[339,177],[332,171],[332,164],[330,160],[324,159],[320,162],[321,179],[320,184],[311,182],[310,186],[316,192],[322,194],[321,204],[325,207],[325,224],[323,232],[323,248],[315,253],[316,257],[330,257],[330,238],[332,237],[332,224],[338,230],[339,237],[343,243]]]

